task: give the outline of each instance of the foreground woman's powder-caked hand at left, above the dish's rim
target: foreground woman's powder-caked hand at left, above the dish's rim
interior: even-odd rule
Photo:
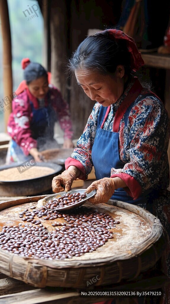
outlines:
[[[52,180],[52,191],[53,192],[62,192],[62,191],[70,191],[72,187],[72,183],[76,178],[75,170],[65,170],[62,174],[57,175]]]

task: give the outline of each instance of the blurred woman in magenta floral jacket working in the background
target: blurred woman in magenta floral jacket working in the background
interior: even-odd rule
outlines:
[[[22,60],[25,81],[22,81],[12,101],[8,134],[12,137],[7,164],[30,159],[42,161],[42,150],[58,147],[54,140],[54,124],[58,119],[64,131],[63,148],[74,147],[68,104],[61,93],[49,85],[49,73],[41,64]]]

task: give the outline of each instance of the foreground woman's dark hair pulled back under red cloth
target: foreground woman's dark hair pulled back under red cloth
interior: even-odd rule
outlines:
[[[112,40],[108,31],[88,36],[80,43],[69,60],[69,70],[85,68],[98,70],[102,74],[115,73],[118,65],[123,65],[125,74],[132,72],[130,53],[125,40]]]

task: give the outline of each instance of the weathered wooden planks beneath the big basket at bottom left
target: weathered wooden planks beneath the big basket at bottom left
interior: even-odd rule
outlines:
[[[105,298],[106,299],[106,298]],[[102,300],[105,300],[101,298]],[[73,288],[36,288],[0,274],[0,304],[90,304],[97,299],[81,299]]]

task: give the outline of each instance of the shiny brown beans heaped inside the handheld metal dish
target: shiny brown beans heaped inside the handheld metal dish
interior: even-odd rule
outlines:
[[[82,199],[86,198],[85,193],[73,193],[73,194],[65,194],[62,196],[59,196],[58,198],[50,199],[49,202],[45,205],[47,209],[57,209],[57,208],[63,208],[70,205],[74,205],[75,203],[78,203],[82,201]]]

